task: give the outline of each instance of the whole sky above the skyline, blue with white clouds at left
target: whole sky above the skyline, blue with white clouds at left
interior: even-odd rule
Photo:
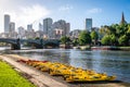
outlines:
[[[51,17],[53,22],[65,20],[74,30],[84,29],[86,18],[93,20],[93,27],[118,24],[122,12],[130,23],[130,0],[0,0],[0,33],[4,14],[15,22],[16,29],[32,24],[38,30],[38,24]]]

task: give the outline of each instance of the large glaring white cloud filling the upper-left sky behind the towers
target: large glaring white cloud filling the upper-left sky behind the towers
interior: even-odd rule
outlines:
[[[28,3],[28,5],[25,5],[25,1],[26,0],[0,0],[0,33],[3,32],[4,28],[4,14],[9,14],[11,16],[11,21],[16,23],[17,29],[18,26],[24,26],[26,28],[27,24],[39,21],[51,12],[40,4]]]

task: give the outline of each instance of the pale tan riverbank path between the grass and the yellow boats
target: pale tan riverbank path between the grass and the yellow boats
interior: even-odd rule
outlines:
[[[48,73],[42,73],[36,69],[27,66],[26,64],[16,62],[20,59],[28,60],[28,58],[14,55],[14,54],[3,54],[0,59],[6,61],[18,71],[26,73],[30,78],[30,82],[36,84],[38,87],[129,87],[130,84],[121,82],[96,82],[96,83],[73,83],[68,84],[61,76],[50,76]]]

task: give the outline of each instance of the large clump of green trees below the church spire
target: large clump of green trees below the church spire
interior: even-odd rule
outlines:
[[[130,24],[103,26],[99,33],[102,36],[101,42],[103,45],[130,45]]]

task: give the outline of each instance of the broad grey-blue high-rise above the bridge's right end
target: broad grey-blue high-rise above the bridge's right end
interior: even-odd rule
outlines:
[[[43,33],[49,36],[50,32],[52,30],[52,18],[48,17],[43,20]]]

